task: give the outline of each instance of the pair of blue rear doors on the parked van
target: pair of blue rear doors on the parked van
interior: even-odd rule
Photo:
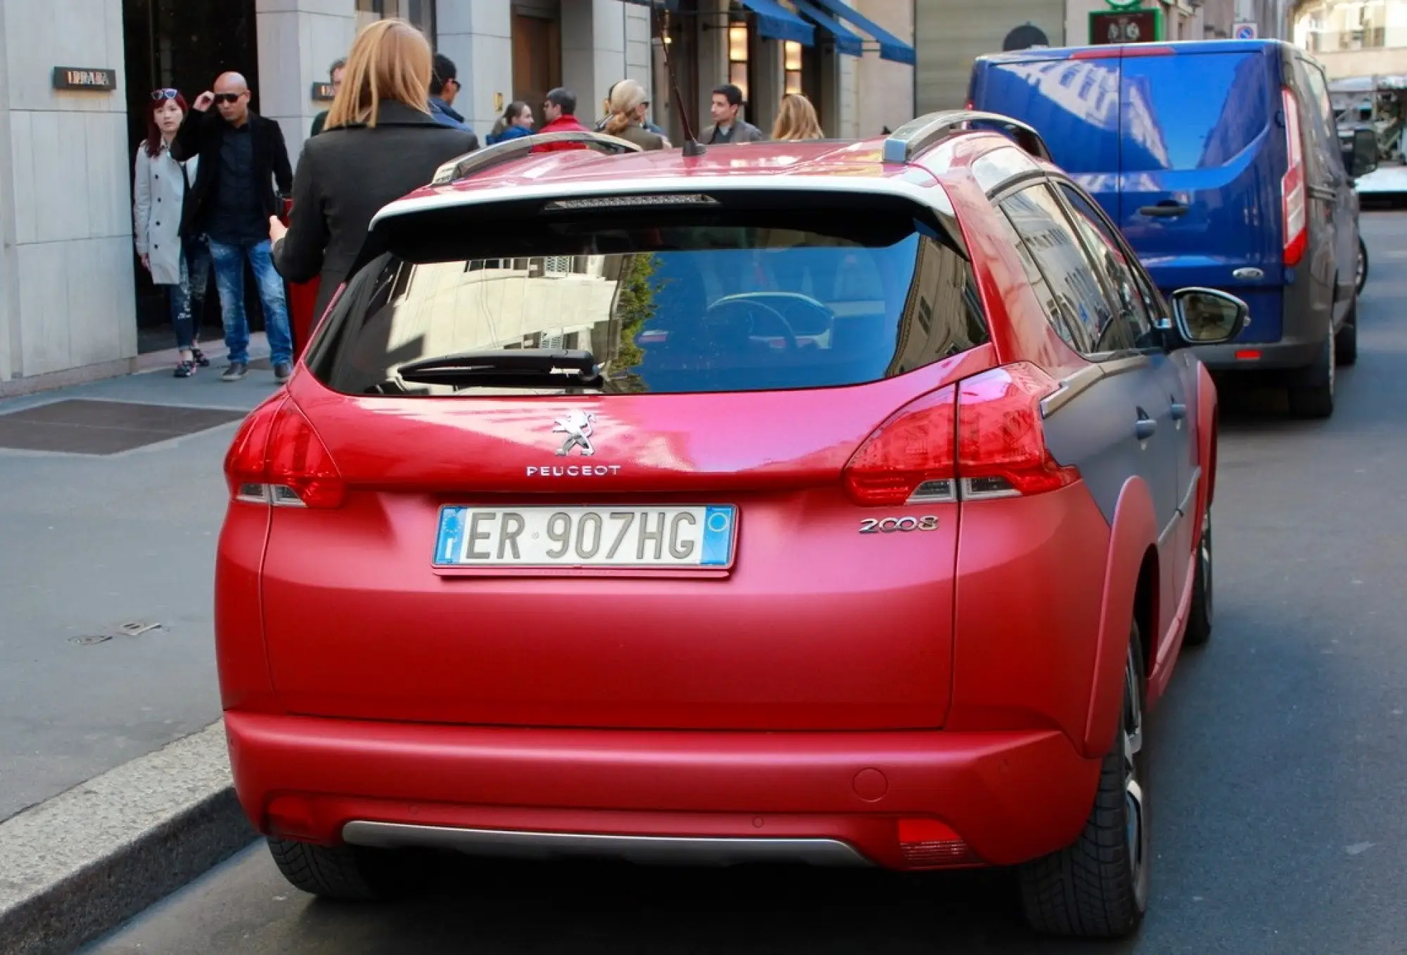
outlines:
[[[1241,342],[1280,338],[1278,49],[1207,42],[982,58],[972,103],[1040,131],[1120,225],[1165,293],[1224,288],[1251,307]],[[1241,269],[1258,270],[1241,273]]]

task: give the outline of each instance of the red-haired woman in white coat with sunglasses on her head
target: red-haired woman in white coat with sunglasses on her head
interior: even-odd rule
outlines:
[[[132,204],[136,255],[152,274],[152,283],[167,288],[176,347],[180,349],[177,378],[189,378],[197,367],[210,366],[197,345],[210,280],[210,249],[204,236],[183,239],[180,235],[186,190],[196,177],[197,159],[182,163],[170,150],[184,118],[186,100],[180,93],[152,91],[146,141],[136,149],[136,201]]]

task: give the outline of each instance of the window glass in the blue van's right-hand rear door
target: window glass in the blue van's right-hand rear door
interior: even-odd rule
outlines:
[[[1126,58],[1123,100],[1124,173],[1224,166],[1271,121],[1266,62],[1252,52]]]

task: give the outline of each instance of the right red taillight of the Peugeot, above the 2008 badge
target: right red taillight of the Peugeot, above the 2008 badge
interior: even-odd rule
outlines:
[[[860,505],[981,501],[1041,494],[1079,480],[1045,447],[1041,399],[1057,383],[1019,361],[900,408],[846,466]]]

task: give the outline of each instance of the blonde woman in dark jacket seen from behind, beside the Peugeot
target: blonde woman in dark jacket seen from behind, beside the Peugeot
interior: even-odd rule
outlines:
[[[371,217],[429,183],[442,163],[478,146],[473,132],[431,117],[429,82],[425,35],[404,20],[378,20],[352,45],[326,129],[303,145],[290,225],[270,217],[266,228],[284,278],[321,278],[317,318],[346,280]]]

